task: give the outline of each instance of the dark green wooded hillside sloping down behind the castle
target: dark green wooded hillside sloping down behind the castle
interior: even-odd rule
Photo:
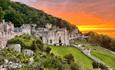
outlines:
[[[37,24],[44,27],[47,23],[60,28],[73,30],[75,25],[62,20],[60,18],[49,15],[42,10],[29,7],[19,2],[11,2],[10,0],[0,0],[0,20],[5,19],[11,21],[16,27],[22,24]]]

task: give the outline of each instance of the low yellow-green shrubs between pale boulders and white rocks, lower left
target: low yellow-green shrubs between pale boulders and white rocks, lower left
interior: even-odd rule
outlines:
[[[23,53],[17,53],[9,48],[5,48],[1,50],[0,57],[3,57],[4,59],[8,59],[9,61],[12,62],[21,62],[21,63],[29,62],[29,56],[26,56]]]

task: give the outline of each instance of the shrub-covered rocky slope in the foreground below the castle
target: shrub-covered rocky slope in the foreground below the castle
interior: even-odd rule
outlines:
[[[0,70],[79,70],[73,55],[62,59],[50,51],[36,37],[16,36],[0,50]]]

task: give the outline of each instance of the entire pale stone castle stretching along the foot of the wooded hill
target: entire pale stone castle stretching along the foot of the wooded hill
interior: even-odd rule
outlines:
[[[17,28],[11,22],[3,21],[0,23],[0,46],[5,46],[8,39],[22,34],[34,35],[41,39],[44,44],[49,45],[70,45],[72,39],[81,37],[78,29],[69,32],[66,28],[58,28],[51,24],[47,24],[45,27],[23,24]]]

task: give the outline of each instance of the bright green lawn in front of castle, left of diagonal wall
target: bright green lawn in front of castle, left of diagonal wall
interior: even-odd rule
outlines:
[[[85,56],[81,51],[74,47],[54,47],[50,46],[52,48],[52,52],[63,58],[66,54],[72,54],[74,56],[74,59],[76,63],[80,64],[82,63],[84,66],[83,70],[92,70],[92,60]]]

